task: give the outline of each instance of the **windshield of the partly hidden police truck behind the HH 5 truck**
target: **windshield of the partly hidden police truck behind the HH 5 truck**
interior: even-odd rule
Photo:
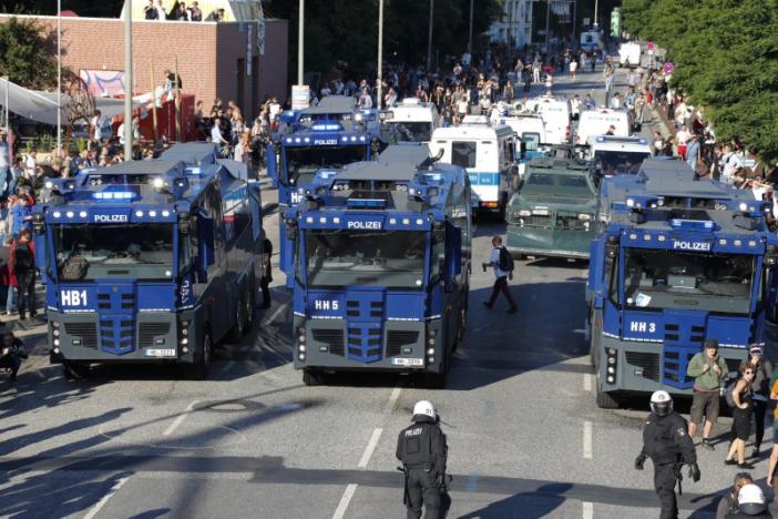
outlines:
[[[314,181],[321,167],[339,169],[352,162],[367,160],[367,145],[286,147],[286,171],[290,185],[305,185]]]

